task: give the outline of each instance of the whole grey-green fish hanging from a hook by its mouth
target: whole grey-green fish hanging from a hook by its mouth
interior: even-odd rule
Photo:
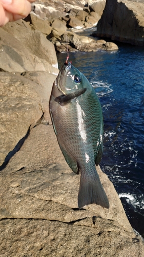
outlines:
[[[103,153],[104,123],[99,99],[88,79],[66,61],[53,83],[49,111],[57,141],[73,172],[80,173],[78,208],[109,208],[96,167]]]

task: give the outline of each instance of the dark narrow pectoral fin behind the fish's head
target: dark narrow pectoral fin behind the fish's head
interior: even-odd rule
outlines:
[[[61,105],[65,105],[69,103],[72,99],[83,95],[86,92],[86,90],[87,88],[79,89],[79,90],[76,90],[74,93],[56,97],[54,100]]]

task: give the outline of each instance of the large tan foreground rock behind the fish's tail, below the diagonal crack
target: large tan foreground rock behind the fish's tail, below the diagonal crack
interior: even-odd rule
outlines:
[[[32,128],[0,173],[1,254],[142,257],[142,238],[132,230],[112,183],[97,169],[110,209],[78,210],[79,176],[65,162],[52,125]]]

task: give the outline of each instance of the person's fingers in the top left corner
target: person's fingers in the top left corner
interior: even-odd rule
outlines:
[[[0,26],[26,17],[35,0],[0,0]]]

